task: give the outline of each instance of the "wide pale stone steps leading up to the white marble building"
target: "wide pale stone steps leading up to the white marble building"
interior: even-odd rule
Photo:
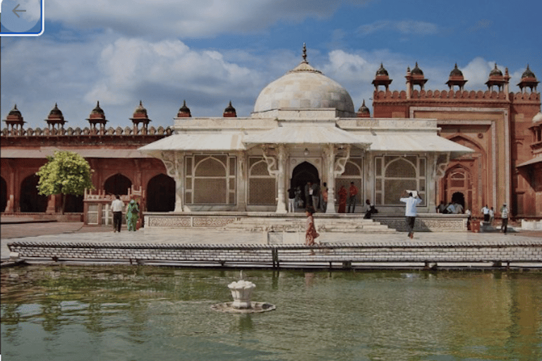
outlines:
[[[361,217],[330,217],[315,215],[316,230],[323,232],[341,233],[395,233],[395,229],[388,228],[373,219]],[[223,231],[243,232],[305,232],[306,218],[300,216],[284,217],[247,217],[224,226]]]

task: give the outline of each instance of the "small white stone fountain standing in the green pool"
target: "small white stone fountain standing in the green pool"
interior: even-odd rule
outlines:
[[[218,303],[212,305],[211,308],[215,311],[229,313],[258,313],[275,310],[275,305],[267,302],[252,302],[251,295],[256,287],[251,281],[243,279],[243,271],[239,275],[239,281],[229,283],[228,288],[231,290],[231,296],[234,302]]]

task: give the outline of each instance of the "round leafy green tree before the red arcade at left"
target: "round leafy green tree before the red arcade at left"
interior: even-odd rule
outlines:
[[[77,153],[67,150],[54,152],[54,157],[47,157],[47,163],[36,174],[40,177],[37,190],[40,195],[62,195],[62,209],[66,205],[66,195],[83,195],[85,188],[92,185],[90,164]]]

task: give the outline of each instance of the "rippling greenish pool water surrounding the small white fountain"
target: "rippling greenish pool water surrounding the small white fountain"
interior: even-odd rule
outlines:
[[[1,270],[6,360],[541,360],[542,274],[244,271],[268,314],[222,314],[238,271]],[[44,355],[47,355],[44,357]]]

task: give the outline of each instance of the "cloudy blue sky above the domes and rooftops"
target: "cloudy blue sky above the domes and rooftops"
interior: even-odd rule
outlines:
[[[497,63],[527,64],[542,79],[540,0],[45,0],[40,37],[1,38],[1,109],[17,104],[43,128],[55,103],[66,127],[88,126],[100,101],[109,123],[131,125],[139,101],[151,126],[170,126],[186,99],[192,116],[222,116],[231,100],[250,116],[260,90],[308,61],[371,107],[384,63],[404,90],[416,61],[427,90],[446,89],[457,63],[466,90],[486,89]],[[2,123],[2,128],[5,123]]]

